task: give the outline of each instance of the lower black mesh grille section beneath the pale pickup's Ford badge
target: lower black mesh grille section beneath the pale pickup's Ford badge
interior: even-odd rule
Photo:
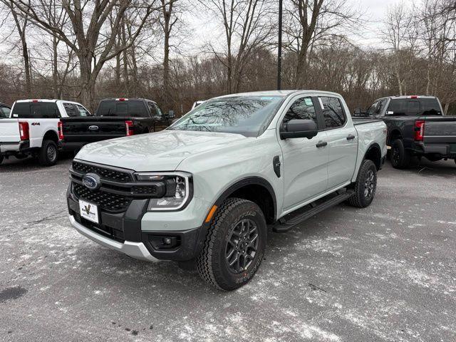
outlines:
[[[122,212],[125,211],[130,205],[130,197],[123,195],[112,194],[101,190],[88,190],[84,185],[73,182],[73,194],[78,199],[86,199],[88,202],[92,202],[110,212]]]

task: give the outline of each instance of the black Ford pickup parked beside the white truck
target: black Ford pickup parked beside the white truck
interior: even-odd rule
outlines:
[[[65,151],[80,150],[90,142],[157,132],[172,123],[157,103],[145,98],[106,98],[94,116],[61,118],[59,138]]]

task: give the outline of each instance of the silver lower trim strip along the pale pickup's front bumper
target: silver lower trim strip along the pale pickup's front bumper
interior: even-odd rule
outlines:
[[[157,258],[153,257],[152,254],[149,253],[147,248],[142,242],[117,242],[113,239],[108,239],[107,237],[103,237],[103,235],[97,234],[90,229],[87,229],[82,224],[74,219],[73,215],[69,215],[70,222],[73,227],[76,228],[78,232],[83,234],[85,237],[88,237],[90,240],[96,242],[97,244],[101,244],[104,247],[108,247],[110,249],[114,249],[115,251],[122,252],[127,254],[129,257],[145,260],[145,261],[159,261]]]

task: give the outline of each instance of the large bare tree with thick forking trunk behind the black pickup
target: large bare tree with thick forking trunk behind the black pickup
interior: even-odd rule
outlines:
[[[65,0],[61,2],[61,7],[68,15],[69,25],[61,28],[48,20],[48,0],[36,0],[33,4],[24,0],[1,1],[10,2],[22,16],[27,16],[38,28],[71,48],[79,60],[81,98],[90,107],[94,105],[95,81],[105,63],[133,45],[148,17],[156,9],[155,0]],[[134,9],[129,16],[132,20],[138,20],[136,31],[129,41],[123,41],[114,50],[116,35],[113,32],[118,32],[128,9]],[[103,34],[105,22],[112,11],[115,11],[113,31]]]

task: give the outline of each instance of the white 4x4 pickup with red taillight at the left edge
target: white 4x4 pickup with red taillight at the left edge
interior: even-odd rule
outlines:
[[[60,118],[88,116],[81,103],[65,100],[18,100],[10,117],[0,120],[0,163],[14,155],[21,159],[32,155],[43,166],[58,159]]]

